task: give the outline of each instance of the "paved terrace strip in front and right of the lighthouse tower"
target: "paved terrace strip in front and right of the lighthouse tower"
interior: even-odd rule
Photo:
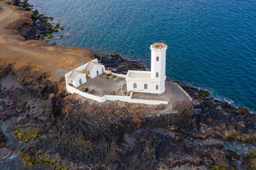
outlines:
[[[168,101],[168,103],[180,103],[188,102],[191,100],[187,94],[180,89],[177,83],[170,81],[165,81],[165,92],[164,94],[148,94],[133,92],[132,99],[147,99],[147,100],[156,100],[156,101]]]

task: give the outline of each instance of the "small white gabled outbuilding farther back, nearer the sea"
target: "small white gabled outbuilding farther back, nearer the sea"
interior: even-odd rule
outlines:
[[[95,78],[104,72],[105,66],[99,64],[99,62],[90,62],[85,69],[87,71],[87,75],[90,76],[90,78]]]

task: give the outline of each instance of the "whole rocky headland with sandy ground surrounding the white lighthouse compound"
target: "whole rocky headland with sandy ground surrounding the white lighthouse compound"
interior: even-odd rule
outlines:
[[[35,169],[38,164],[53,169],[256,167],[255,115],[207,91],[183,87],[193,102],[180,104],[177,112],[168,105],[97,103],[67,94],[60,70],[94,58],[116,73],[145,67],[120,55],[26,40],[20,30],[33,25],[33,13],[13,3],[0,1],[0,16],[9,18],[0,19],[0,120],[20,118],[11,125],[12,134],[26,145],[12,152],[19,152],[23,164]],[[6,137],[0,131],[2,147]]]

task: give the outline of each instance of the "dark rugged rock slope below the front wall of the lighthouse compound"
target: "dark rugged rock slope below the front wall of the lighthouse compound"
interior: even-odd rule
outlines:
[[[1,90],[6,105],[2,110],[6,117],[1,119],[24,116],[13,125],[13,134],[29,143],[19,150],[29,167],[236,168],[244,165],[234,164],[243,157],[223,143],[249,143],[255,137],[255,115],[246,110],[237,113],[238,109],[192,87],[184,89],[194,97],[193,106],[182,105],[182,111],[172,113],[166,105],[81,99],[67,94],[64,78],[51,81],[51,73],[35,65],[2,64],[0,73],[2,88],[9,75],[20,83]],[[13,110],[23,111],[13,115]],[[253,158],[246,159],[248,164],[253,166]]]

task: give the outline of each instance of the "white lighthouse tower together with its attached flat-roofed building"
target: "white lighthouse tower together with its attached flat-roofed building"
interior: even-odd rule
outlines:
[[[127,91],[161,94],[165,91],[166,49],[164,43],[154,43],[151,50],[151,71],[131,71],[126,75]]]

